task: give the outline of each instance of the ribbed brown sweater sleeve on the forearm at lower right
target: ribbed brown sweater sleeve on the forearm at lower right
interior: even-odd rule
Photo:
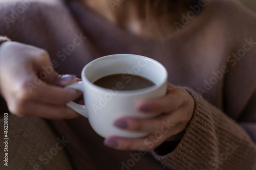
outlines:
[[[155,158],[174,170],[255,169],[256,122],[240,126],[194,90],[186,90],[195,100],[194,115],[175,150],[166,155],[153,151]],[[251,136],[242,126],[249,129]]]

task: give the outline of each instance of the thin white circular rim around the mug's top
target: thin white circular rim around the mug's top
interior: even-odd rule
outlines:
[[[98,85],[93,84],[93,82],[89,81],[88,78],[86,77],[86,69],[94,62],[97,62],[99,60],[103,60],[105,58],[110,58],[110,57],[116,57],[116,56],[138,56],[138,57],[144,57],[147,60],[150,60],[152,62],[154,62],[154,64],[159,65],[160,67],[162,67],[163,69],[163,82],[159,83],[158,85],[154,85],[151,87],[146,87],[146,88],[142,88],[142,89],[136,89],[136,90],[118,90],[118,95],[135,95],[135,94],[142,94],[142,93],[147,93],[150,91],[154,91],[155,89],[160,88],[161,86],[163,86],[165,83],[167,83],[167,77],[168,77],[168,72],[166,70],[166,68],[157,60],[154,60],[152,58],[146,57],[146,56],[141,56],[141,55],[135,55],[135,54],[113,54],[113,55],[108,55],[108,56],[103,56],[103,57],[99,57],[95,60],[90,61],[88,64],[86,64],[86,66],[83,67],[82,72],[81,72],[81,78],[82,78],[82,82],[84,82],[84,84],[88,84],[90,86],[93,86],[94,88],[100,90],[100,91],[109,91],[108,88],[104,88],[104,87],[100,87]]]

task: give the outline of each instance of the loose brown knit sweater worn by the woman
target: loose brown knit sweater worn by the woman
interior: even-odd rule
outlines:
[[[20,2],[0,2],[0,35],[45,48],[59,74],[79,77],[84,65],[105,55],[146,55],[195,100],[177,147],[164,142],[144,156],[105,147],[84,117],[47,120],[70,141],[65,149],[74,169],[256,169],[255,14],[232,1],[211,1],[160,41],[124,31],[78,2]]]

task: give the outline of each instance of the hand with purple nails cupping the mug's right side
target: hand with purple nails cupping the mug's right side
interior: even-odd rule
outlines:
[[[137,139],[108,137],[104,144],[118,150],[152,151],[164,141],[179,140],[194,112],[194,99],[181,87],[168,83],[167,95],[159,100],[143,102],[138,109],[145,114],[159,112],[150,119],[122,117],[114,125],[118,128],[149,133]]]

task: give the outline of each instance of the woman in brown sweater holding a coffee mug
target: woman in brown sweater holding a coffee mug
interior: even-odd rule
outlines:
[[[256,167],[254,13],[221,0],[22,2],[2,3],[0,35],[12,41],[0,47],[1,93],[13,114],[62,119],[47,121],[70,141],[75,169]],[[114,123],[150,135],[104,139],[113,150],[65,106],[80,92],[61,88],[76,79],[59,74],[80,75],[89,61],[118,53],[158,60],[170,83],[164,98],[138,106],[163,114]],[[44,169],[53,155],[29,166]]]

